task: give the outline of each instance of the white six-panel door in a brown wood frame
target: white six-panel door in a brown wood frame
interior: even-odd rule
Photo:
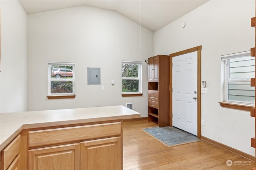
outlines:
[[[172,57],[172,125],[197,135],[197,51]]]

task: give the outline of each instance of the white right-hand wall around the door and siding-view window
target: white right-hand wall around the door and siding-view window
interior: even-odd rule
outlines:
[[[169,55],[202,45],[202,136],[255,156],[250,147],[254,118],[248,111],[220,107],[220,56],[254,47],[254,0],[211,0],[154,33],[154,55]],[[186,27],[182,28],[182,23]]]

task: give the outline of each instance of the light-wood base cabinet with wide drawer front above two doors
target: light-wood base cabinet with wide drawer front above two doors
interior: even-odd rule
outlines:
[[[28,131],[29,170],[122,170],[122,159],[121,121]]]

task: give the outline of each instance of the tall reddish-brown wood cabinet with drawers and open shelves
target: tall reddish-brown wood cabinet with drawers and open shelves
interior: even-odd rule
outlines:
[[[148,58],[148,121],[170,125],[170,56]]]

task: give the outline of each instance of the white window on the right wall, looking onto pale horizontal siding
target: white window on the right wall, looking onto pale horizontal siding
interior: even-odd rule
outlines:
[[[255,57],[250,51],[221,56],[224,66],[224,102],[254,105],[255,88],[250,86],[255,76]]]

